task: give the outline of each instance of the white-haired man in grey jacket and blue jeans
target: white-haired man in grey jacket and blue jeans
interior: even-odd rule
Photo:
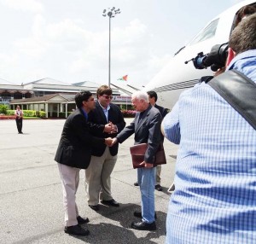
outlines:
[[[154,182],[155,167],[154,155],[160,145],[160,123],[162,120],[160,111],[148,103],[148,94],[137,91],[131,96],[132,105],[137,110],[135,119],[131,125],[125,127],[119,135],[113,138],[112,144],[122,143],[132,134],[135,134],[135,144],[148,143],[144,155],[142,168],[137,169],[137,181],[142,195],[142,211],[134,212],[136,217],[142,218],[139,222],[132,222],[131,228],[139,230],[154,230]]]

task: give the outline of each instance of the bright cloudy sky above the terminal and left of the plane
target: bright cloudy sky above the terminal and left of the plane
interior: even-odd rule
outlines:
[[[213,17],[239,0],[0,0],[0,78],[141,87]]]

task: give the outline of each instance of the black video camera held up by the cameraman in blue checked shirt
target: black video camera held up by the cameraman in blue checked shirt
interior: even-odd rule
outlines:
[[[212,47],[210,53],[207,55],[201,52],[189,61],[193,61],[196,69],[211,67],[212,71],[216,72],[219,68],[225,66],[228,57],[228,49],[229,44],[217,44]],[[189,61],[185,61],[185,64]]]

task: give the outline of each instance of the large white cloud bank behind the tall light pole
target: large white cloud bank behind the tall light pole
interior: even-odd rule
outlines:
[[[152,48],[154,36],[141,20],[131,20],[122,29],[113,27],[111,38],[113,79],[129,73],[134,83],[143,78],[148,80],[169,58],[160,57]],[[13,53],[16,67],[19,64],[24,67],[23,73],[27,73],[31,80],[52,77],[64,78],[64,82],[79,82],[108,78],[108,29],[88,31],[82,20],[64,19],[49,23],[44,15],[35,15],[30,35],[15,41]]]

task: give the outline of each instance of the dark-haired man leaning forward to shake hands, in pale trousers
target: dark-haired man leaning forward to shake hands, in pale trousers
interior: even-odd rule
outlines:
[[[65,122],[55,161],[58,162],[63,189],[64,231],[71,235],[88,235],[89,230],[82,229],[79,224],[88,223],[89,219],[79,216],[75,202],[79,187],[79,171],[89,166],[92,145],[100,146],[111,141],[93,137],[89,132],[87,114],[95,107],[94,97],[90,91],[79,92],[75,96],[75,102],[78,109],[71,113]]]

